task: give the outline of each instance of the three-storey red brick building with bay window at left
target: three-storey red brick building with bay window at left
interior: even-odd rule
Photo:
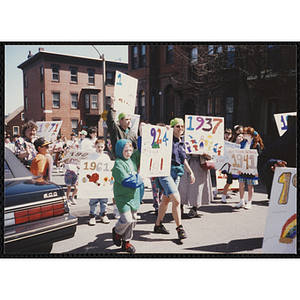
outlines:
[[[103,99],[103,62],[100,59],[44,51],[18,66],[23,70],[25,122],[63,121],[60,134],[69,137],[90,126],[103,136],[102,112],[113,95],[115,71],[128,64],[105,61],[106,98]]]

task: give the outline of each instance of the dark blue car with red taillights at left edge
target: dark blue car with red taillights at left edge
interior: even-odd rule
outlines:
[[[50,253],[52,244],[76,232],[61,186],[39,181],[5,148],[4,252]]]

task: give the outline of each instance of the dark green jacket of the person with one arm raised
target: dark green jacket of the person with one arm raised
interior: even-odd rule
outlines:
[[[112,153],[114,158],[116,158],[116,143],[118,140],[121,139],[127,139],[131,140],[133,149],[137,149],[137,136],[134,131],[132,131],[130,128],[127,132],[118,125],[115,120],[114,120],[114,111],[112,108],[109,108],[108,113],[107,113],[107,127],[108,127],[108,132],[110,134],[110,140],[111,140],[111,145],[112,145]]]

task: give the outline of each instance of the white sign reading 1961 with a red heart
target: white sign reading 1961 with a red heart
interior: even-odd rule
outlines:
[[[81,160],[78,176],[78,198],[112,198],[114,161],[98,158]]]

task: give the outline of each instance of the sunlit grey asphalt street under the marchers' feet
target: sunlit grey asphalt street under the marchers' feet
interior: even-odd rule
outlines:
[[[63,186],[64,173],[54,173],[53,181]],[[146,187],[144,204],[140,206],[138,220],[134,230],[132,244],[137,254],[184,254],[185,256],[205,255],[247,255],[260,254],[262,249],[266,217],[268,211],[267,194],[263,186],[255,187],[255,193],[250,210],[236,209],[239,194],[229,192],[232,199],[227,204],[221,202],[218,194],[210,205],[198,208],[199,217],[183,219],[182,225],[186,231],[187,239],[178,239],[171,213],[171,204],[164,218],[164,225],[170,231],[168,235],[156,234],[153,231],[156,220],[152,190]],[[246,196],[247,199],[247,196]],[[117,220],[113,217],[112,199],[109,199],[107,212],[109,224],[103,224],[97,219],[95,226],[89,226],[89,199],[77,199],[72,205],[70,213],[78,218],[77,231],[71,239],[54,243],[51,253],[65,254],[124,254],[121,248],[112,241],[112,228]],[[99,209],[99,208],[98,208]],[[189,211],[185,207],[185,213]]]

